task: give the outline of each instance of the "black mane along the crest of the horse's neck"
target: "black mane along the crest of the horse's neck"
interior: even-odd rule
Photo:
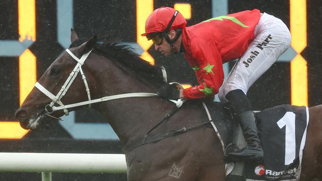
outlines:
[[[69,48],[82,45],[87,39],[73,42]],[[120,44],[119,40],[111,37],[99,39],[93,50],[100,55],[107,57],[120,68],[133,75],[141,82],[160,87],[164,84],[160,67],[151,65],[142,59],[129,45]]]

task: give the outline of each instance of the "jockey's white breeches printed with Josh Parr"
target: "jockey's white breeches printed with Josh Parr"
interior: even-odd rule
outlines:
[[[278,18],[264,13],[255,28],[255,39],[238,59],[218,92],[221,102],[231,90],[245,94],[253,83],[283,54],[291,43],[291,34]]]

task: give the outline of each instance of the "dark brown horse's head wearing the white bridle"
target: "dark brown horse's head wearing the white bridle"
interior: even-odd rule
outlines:
[[[77,40],[78,36],[76,32],[72,30],[71,42],[74,43]],[[84,83],[82,85],[83,80],[81,74],[86,74],[88,85],[95,85],[94,79],[86,66],[79,66],[81,68],[77,69],[76,66],[80,63],[75,60],[81,59],[83,54],[91,51],[96,44],[96,41],[96,36],[94,36],[80,46],[67,49],[54,60],[36,83],[36,86],[28,94],[21,107],[15,112],[15,116],[19,120],[22,128],[41,131],[46,128],[55,117],[68,114],[66,109],[53,112],[50,110],[51,106],[57,106],[61,102],[70,104],[88,98]],[[76,57],[72,57],[71,54]],[[88,59],[90,59],[90,57],[88,57]],[[75,74],[75,72],[76,76],[71,78],[70,75],[72,73]],[[68,78],[74,79],[72,82],[69,80],[69,84],[71,85],[68,85],[67,83]],[[62,87],[64,88],[62,89]],[[91,90],[95,91],[96,89],[95,87],[92,87]],[[61,94],[60,97],[56,96],[59,93]],[[56,97],[54,98],[50,95]]]

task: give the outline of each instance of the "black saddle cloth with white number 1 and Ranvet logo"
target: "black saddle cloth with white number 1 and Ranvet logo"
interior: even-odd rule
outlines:
[[[226,147],[232,142],[233,114],[220,102],[205,103]],[[307,107],[287,104],[255,113],[264,149],[264,161],[260,164],[246,162],[247,180],[291,181],[300,177],[309,122],[307,114]]]

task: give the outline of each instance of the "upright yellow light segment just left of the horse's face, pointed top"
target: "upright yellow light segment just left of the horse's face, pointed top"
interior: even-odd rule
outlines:
[[[20,105],[36,83],[36,57],[26,49],[19,57],[19,91]]]

